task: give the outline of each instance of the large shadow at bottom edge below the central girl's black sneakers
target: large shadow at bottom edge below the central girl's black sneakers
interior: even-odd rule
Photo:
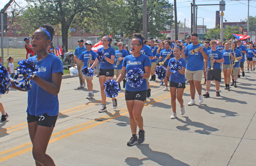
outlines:
[[[130,166],[143,165],[143,161],[151,160],[156,162],[158,165],[188,165],[180,160],[177,160],[167,153],[153,151],[148,144],[136,145],[141,150],[141,153],[146,158],[127,157],[125,162]]]

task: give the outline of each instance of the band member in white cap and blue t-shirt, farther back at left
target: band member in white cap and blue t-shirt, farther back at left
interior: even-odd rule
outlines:
[[[96,52],[92,50],[92,45],[93,43],[90,40],[86,41],[87,50],[81,53],[80,57],[78,57],[79,59],[77,59],[77,57],[74,57],[74,60],[76,60],[78,63],[81,63],[83,61],[83,67],[89,68],[89,65],[93,64],[96,59]],[[90,64],[89,64],[89,59],[91,59]],[[82,77],[87,81],[87,88],[89,91],[87,99],[93,99],[94,97],[93,82],[92,82],[93,76],[88,77],[88,76],[82,75]]]

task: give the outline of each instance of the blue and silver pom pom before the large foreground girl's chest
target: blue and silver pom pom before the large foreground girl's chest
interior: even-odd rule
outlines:
[[[30,90],[32,85],[27,78],[30,78],[33,74],[38,74],[38,66],[30,59],[19,61],[18,65],[16,68],[17,73],[14,76],[14,83],[16,87],[22,90]]]

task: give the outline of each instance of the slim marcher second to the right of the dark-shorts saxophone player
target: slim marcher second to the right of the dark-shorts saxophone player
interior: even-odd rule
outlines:
[[[234,86],[234,88],[237,88],[237,77],[238,77],[238,70],[239,70],[239,60],[241,60],[243,58],[242,53],[240,51],[240,49],[237,49],[237,42],[232,42],[232,50],[231,50],[231,57],[233,60],[238,60],[238,62],[236,62],[233,65],[233,70],[234,72],[231,72],[231,76],[232,76],[232,84],[230,84],[230,86]],[[233,52],[234,51],[234,52]],[[234,56],[236,56],[236,58],[234,58]],[[236,80],[236,81],[234,81]]]

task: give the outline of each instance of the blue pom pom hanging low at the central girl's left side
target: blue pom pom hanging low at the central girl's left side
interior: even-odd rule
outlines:
[[[105,95],[106,97],[109,98],[114,98],[118,95],[118,92],[120,91],[119,89],[119,84],[117,83],[117,81],[113,80],[113,79],[109,79],[104,83],[104,87],[105,87]]]

